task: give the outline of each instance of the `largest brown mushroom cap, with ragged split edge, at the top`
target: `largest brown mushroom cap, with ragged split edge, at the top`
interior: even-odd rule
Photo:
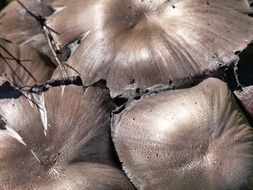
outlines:
[[[180,86],[238,59],[253,39],[246,0],[56,0],[48,25],[58,45],[79,40],[68,64],[113,97],[155,84]],[[69,71],[76,74],[73,70]]]

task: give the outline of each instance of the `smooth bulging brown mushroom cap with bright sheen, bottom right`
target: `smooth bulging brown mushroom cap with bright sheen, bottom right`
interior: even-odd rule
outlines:
[[[112,134],[138,189],[253,187],[253,130],[218,79],[131,103],[114,115]]]

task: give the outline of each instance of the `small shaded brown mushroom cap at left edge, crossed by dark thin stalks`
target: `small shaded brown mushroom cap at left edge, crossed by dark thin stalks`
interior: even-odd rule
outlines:
[[[0,75],[14,86],[31,86],[49,80],[55,69],[50,59],[29,46],[0,44]]]

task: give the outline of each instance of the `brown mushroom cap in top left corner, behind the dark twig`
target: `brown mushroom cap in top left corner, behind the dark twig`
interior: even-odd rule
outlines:
[[[52,0],[20,0],[36,16],[46,17],[53,13],[48,3]],[[19,45],[29,44],[40,52],[52,56],[40,23],[17,1],[11,2],[0,13],[0,34]]]

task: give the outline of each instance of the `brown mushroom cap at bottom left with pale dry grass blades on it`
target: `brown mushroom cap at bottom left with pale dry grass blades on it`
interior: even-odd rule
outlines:
[[[29,98],[28,98],[29,97]],[[0,189],[133,189],[113,157],[108,89],[0,85]]]

